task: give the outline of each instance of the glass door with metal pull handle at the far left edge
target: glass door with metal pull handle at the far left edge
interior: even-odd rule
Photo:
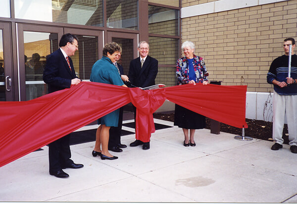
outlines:
[[[10,24],[0,22],[0,101],[13,101]]]

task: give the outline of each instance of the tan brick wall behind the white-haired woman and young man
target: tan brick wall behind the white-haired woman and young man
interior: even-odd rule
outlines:
[[[191,2],[196,1],[183,0],[182,5]],[[282,42],[288,37],[297,40],[297,0],[182,19],[182,42],[196,45],[209,79],[247,85],[251,92],[272,91],[266,74],[272,60],[284,53]]]

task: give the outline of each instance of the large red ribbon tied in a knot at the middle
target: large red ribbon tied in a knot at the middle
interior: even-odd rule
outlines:
[[[155,90],[82,82],[27,102],[0,102],[0,166],[132,102],[136,138],[148,142],[152,113],[168,99],[206,117],[247,127],[247,86],[182,85]]]

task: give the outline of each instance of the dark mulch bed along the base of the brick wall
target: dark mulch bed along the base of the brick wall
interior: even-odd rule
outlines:
[[[156,119],[167,120],[174,122],[173,113],[153,113],[153,117]],[[245,136],[257,138],[261,140],[273,141],[272,139],[272,122],[266,122],[263,120],[246,119],[248,128],[245,128]],[[210,129],[210,119],[206,118],[206,129]],[[231,133],[235,135],[242,135],[242,129],[232,127],[230,125],[221,123],[221,132]],[[283,131],[284,144],[289,144],[288,138],[288,126],[285,124]]]

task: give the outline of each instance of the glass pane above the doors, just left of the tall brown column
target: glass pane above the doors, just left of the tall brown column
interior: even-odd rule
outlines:
[[[138,0],[106,0],[107,27],[138,30]]]

